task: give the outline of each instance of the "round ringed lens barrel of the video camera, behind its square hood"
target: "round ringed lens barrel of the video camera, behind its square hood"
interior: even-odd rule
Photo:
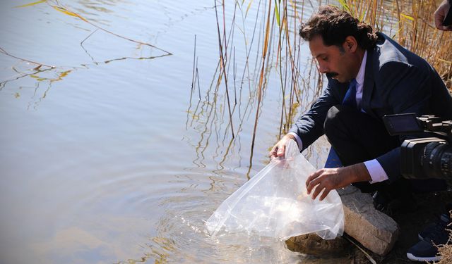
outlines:
[[[452,177],[452,147],[447,142],[431,142],[424,148],[422,168],[430,177]]]

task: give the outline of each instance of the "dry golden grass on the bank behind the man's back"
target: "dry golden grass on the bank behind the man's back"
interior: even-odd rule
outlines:
[[[452,32],[437,30],[434,11],[441,1],[340,1],[343,8],[374,29],[385,32],[410,51],[425,58],[452,86]]]

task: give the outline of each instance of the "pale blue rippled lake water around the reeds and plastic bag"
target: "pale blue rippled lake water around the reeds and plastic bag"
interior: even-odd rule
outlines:
[[[283,101],[273,52],[249,171],[269,3],[226,2],[234,139],[224,78],[215,85],[214,1],[1,2],[0,263],[309,263],[283,241],[206,233],[215,208],[268,163]],[[222,29],[221,5],[218,18]],[[309,51],[298,52],[303,72]],[[323,140],[307,158],[319,167],[327,149]]]

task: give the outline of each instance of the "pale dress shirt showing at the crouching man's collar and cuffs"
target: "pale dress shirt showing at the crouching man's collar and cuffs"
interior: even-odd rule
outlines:
[[[361,66],[359,67],[359,72],[355,78],[357,82],[356,84],[357,106],[359,106],[362,101],[362,88],[364,84],[364,73],[366,72],[366,61],[367,61],[367,51],[364,52],[364,57],[362,58]],[[361,109],[361,111],[364,112],[363,109]],[[289,134],[292,134],[292,136],[295,137],[298,143],[298,147],[301,151],[303,149],[302,139],[300,139],[298,135],[294,132],[290,132]],[[388,175],[386,175],[386,172],[383,170],[383,167],[381,167],[381,164],[376,159],[373,159],[371,161],[364,161],[364,165],[366,165],[367,171],[369,171],[369,175],[372,179],[370,183],[388,180]]]

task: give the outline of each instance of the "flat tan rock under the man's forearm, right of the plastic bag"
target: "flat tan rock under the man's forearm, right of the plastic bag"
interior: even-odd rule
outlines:
[[[370,194],[356,187],[338,189],[338,193],[344,206],[345,233],[381,256],[391,251],[399,235],[396,221],[376,210]]]

